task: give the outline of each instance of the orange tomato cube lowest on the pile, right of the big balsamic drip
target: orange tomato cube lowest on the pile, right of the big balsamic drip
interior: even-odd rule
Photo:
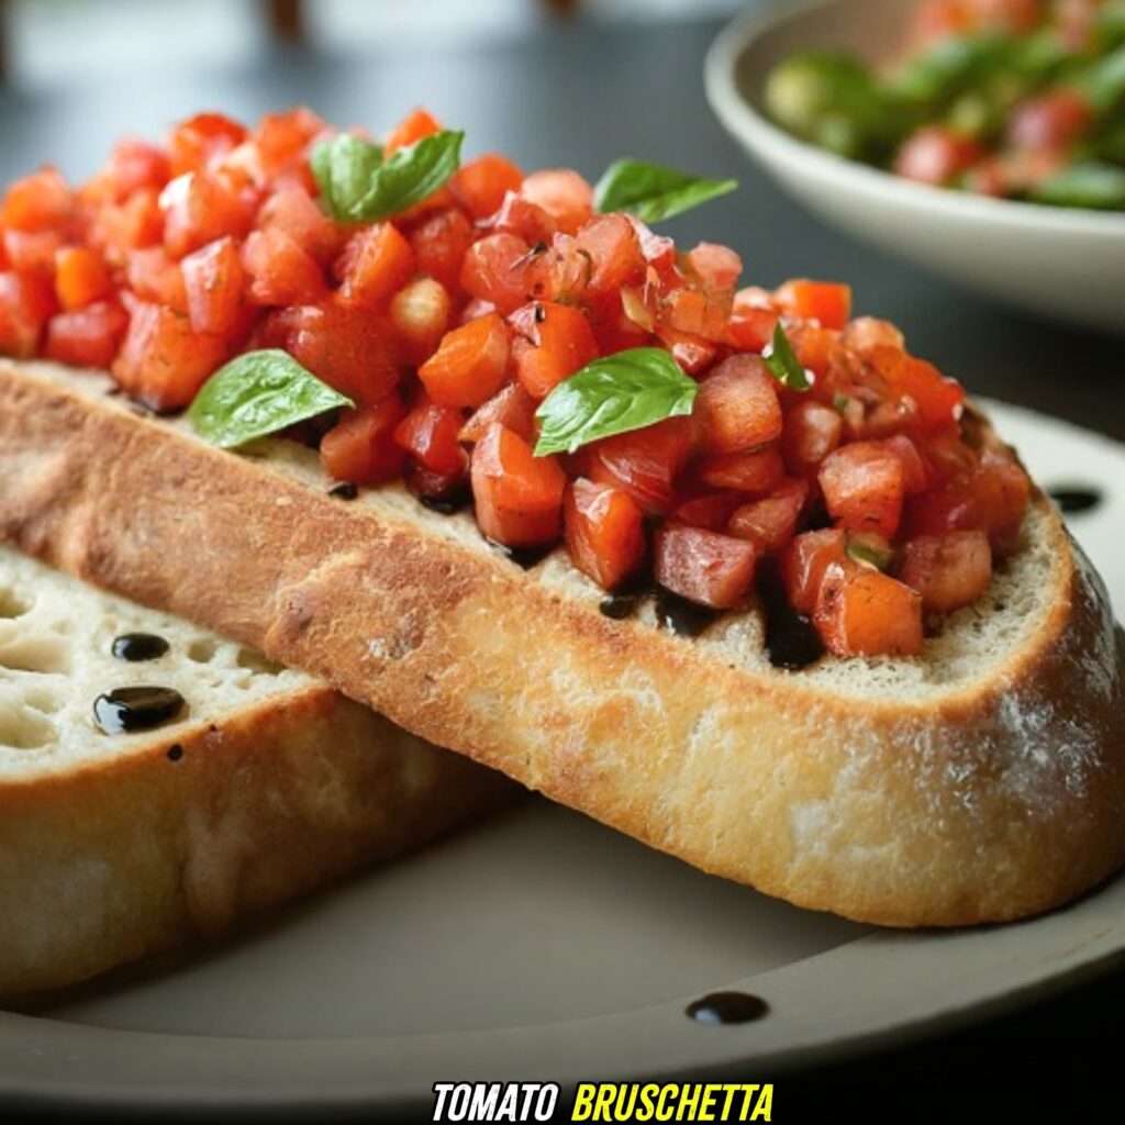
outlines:
[[[917,656],[921,595],[871,567],[829,565],[813,615],[836,656]]]

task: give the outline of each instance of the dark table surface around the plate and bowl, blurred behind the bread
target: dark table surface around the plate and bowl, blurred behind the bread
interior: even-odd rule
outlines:
[[[385,128],[424,101],[467,130],[468,153],[498,148],[525,168],[564,164],[594,178],[629,154],[737,176],[739,192],[674,220],[669,233],[736,248],[750,282],[848,279],[860,310],[896,321],[912,351],[972,390],[1125,440],[1125,339],[1009,313],[810,218],[742,158],[708,109],[702,61],[717,30],[699,21],[574,21],[465,48],[416,45],[362,57],[294,48],[237,71],[190,73],[165,73],[154,60],[150,70],[115,82],[0,91],[0,179],[46,156],[86,176],[122,133],[160,135],[204,107],[252,118],[302,101],[330,120]],[[1043,284],[1052,284],[1050,262]],[[989,1088],[1008,1109],[1034,1110],[1046,1097],[1030,1077],[1038,1071],[1053,1097],[1073,1109],[1076,1099],[1108,1090],[1116,1078],[1123,1006],[1125,973],[1118,971],[1017,1016],[785,1084],[826,1106],[860,1095],[868,1113],[898,1104],[914,1115],[917,1094],[955,1099],[966,1088]]]

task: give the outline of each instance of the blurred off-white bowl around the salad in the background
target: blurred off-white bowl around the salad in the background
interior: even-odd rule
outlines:
[[[803,48],[888,57],[902,0],[830,0],[755,14],[706,58],[711,107],[810,210],[980,292],[1073,324],[1125,333],[1125,214],[1010,202],[912,183],[795,140],[765,116],[771,69]]]

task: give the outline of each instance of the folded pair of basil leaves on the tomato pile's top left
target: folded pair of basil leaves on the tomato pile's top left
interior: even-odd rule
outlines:
[[[313,153],[313,174],[333,218],[374,223],[421,202],[461,164],[465,134],[443,129],[384,158],[369,141],[341,133]]]

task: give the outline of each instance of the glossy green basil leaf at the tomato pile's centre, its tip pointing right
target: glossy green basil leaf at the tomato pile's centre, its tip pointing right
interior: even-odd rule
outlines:
[[[691,414],[699,384],[663,348],[633,348],[587,363],[540,404],[536,457],[573,453],[600,438]]]

